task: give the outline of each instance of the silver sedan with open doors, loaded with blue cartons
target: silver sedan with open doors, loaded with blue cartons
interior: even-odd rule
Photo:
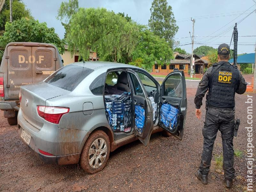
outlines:
[[[104,168],[109,153],[153,132],[182,139],[187,111],[184,72],[159,84],[147,71],[113,62],[69,64],[43,82],[20,87],[22,141],[48,164]]]

